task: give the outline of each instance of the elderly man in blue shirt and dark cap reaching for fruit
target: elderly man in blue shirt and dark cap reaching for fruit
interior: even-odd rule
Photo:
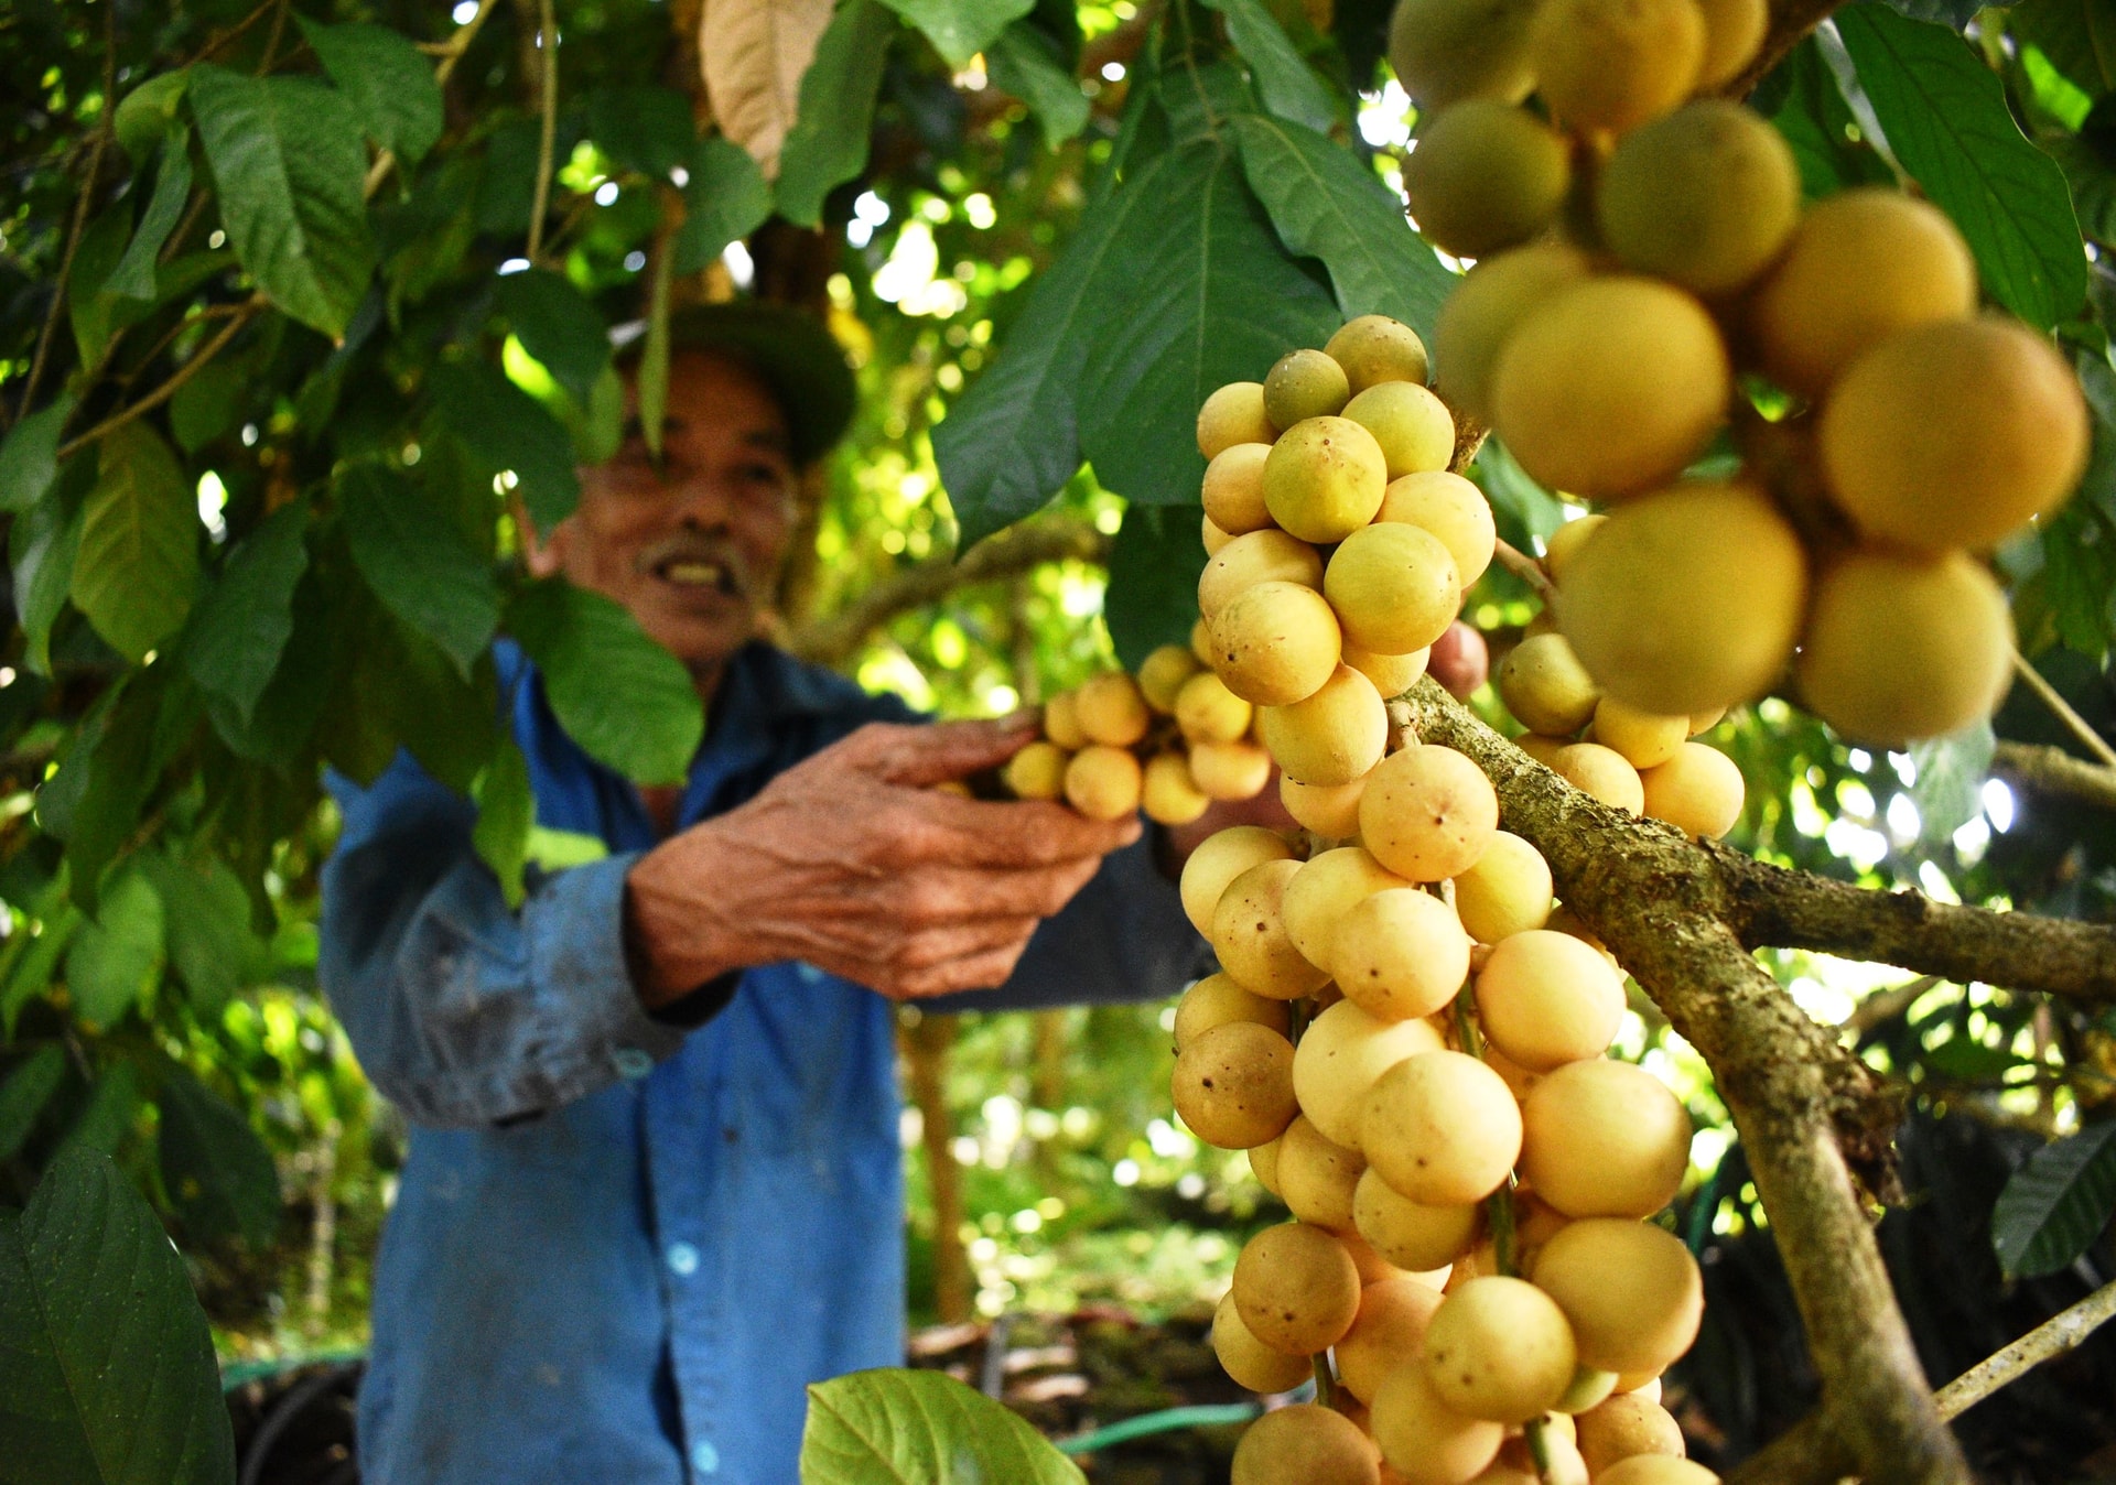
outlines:
[[[1136,821],[933,789],[1033,728],[901,726],[753,639],[851,377],[762,307],[690,311],[675,345],[662,468],[633,432],[527,561],[690,668],[688,783],[586,757],[506,643],[537,825],[607,855],[510,910],[461,795],[408,757],[336,783],[320,975],[413,1121],[360,1402],[375,1485],[791,1483],[804,1386],[904,1356],[891,1001],[1198,971]]]

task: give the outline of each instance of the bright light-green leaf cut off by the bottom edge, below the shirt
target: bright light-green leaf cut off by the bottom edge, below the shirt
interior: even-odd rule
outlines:
[[[802,1485],[1005,1481],[1083,1485],[1022,1417],[940,1371],[855,1371],[808,1388]]]

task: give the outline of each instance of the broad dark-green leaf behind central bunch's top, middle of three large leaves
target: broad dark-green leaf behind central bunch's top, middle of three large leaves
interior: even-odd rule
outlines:
[[[1234,150],[1183,146],[1117,195],[1134,190],[1147,201],[1117,228],[1094,290],[1111,305],[1081,368],[1079,446],[1105,489],[1189,506],[1204,480],[1198,406],[1322,345],[1339,315],[1278,241]]]

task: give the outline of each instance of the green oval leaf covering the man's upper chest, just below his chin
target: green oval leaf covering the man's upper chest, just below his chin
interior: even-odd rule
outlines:
[[[624,607],[548,580],[514,594],[508,632],[544,673],[567,736],[633,783],[683,783],[705,709],[690,673]]]

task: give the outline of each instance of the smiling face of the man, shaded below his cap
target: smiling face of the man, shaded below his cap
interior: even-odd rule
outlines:
[[[631,415],[633,387],[626,404]],[[724,358],[677,351],[660,472],[633,417],[618,455],[580,472],[580,510],[529,565],[616,599],[703,679],[755,628],[794,491],[785,415],[764,383]]]

